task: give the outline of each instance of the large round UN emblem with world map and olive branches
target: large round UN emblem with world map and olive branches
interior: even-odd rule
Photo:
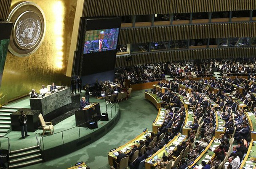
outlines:
[[[16,56],[27,56],[35,52],[45,35],[43,10],[35,3],[20,3],[13,8],[8,21],[14,23],[9,51]]]

